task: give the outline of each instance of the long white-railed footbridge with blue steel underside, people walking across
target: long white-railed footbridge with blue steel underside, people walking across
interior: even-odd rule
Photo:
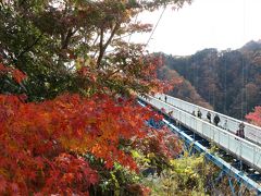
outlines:
[[[215,183],[227,176],[232,195],[244,195],[246,188],[261,195],[261,127],[244,122],[245,138],[236,135],[241,121],[202,108],[190,102],[164,95],[139,96],[141,106],[149,105],[164,115],[165,123],[185,145],[204,157],[221,169]],[[195,111],[202,115],[196,117]],[[221,125],[214,125],[207,119],[210,112],[220,117]],[[219,147],[210,150],[211,144]],[[235,186],[239,186],[236,192]],[[244,188],[246,187],[245,191]]]

